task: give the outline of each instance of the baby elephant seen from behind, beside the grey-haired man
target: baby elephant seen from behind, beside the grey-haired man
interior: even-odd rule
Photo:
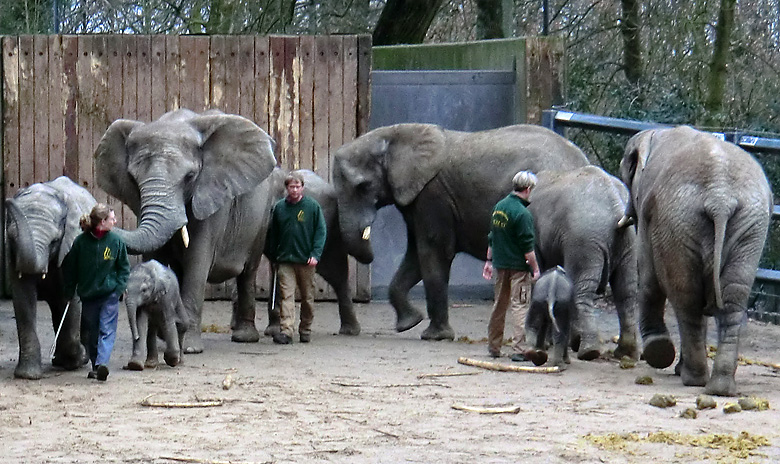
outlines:
[[[574,317],[574,284],[561,266],[556,266],[539,277],[531,292],[531,307],[525,320],[529,343],[535,349],[525,357],[537,366],[547,362],[546,341],[552,335],[552,364],[560,370],[569,363],[569,337]],[[535,338],[535,340],[534,340]]]

